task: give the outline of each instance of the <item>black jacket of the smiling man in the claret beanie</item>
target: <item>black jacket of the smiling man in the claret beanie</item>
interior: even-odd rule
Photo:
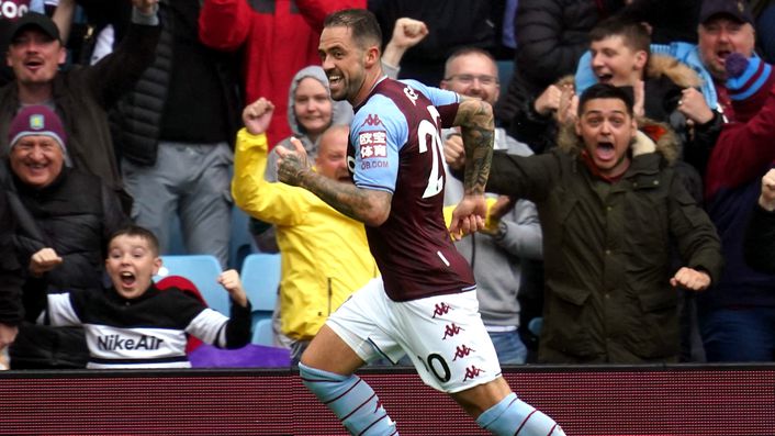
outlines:
[[[88,358],[81,329],[33,325],[45,306],[45,291],[100,289],[109,236],[128,223],[117,195],[97,176],[64,168],[52,185],[32,189],[19,180],[8,164],[0,165],[0,187],[8,194],[16,228],[12,236],[16,259],[23,266],[22,303],[27,323],[10,349],[12,368],[82,368]],[[63,264],[35,278],[26,268],[30,258],[50,247]]]

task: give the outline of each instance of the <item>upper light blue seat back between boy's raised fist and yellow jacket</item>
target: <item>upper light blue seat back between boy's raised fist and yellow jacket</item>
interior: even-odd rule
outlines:
[[[248,255],[243,262],[242,279],[254,314],[263,315],[259,317],[271,317],[280,286],[280,255],[268,253]]]

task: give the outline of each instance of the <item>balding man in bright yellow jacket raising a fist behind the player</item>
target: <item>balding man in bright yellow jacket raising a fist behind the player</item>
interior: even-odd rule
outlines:
[[[277,226],[282,256],[280,311],[282,333],[293,340],[297,362],[326,317],[355,290],[379,275],[369,253],[363,224],[335,211],[314,193],[265,180],[266,131],[274,105],[260,98],[245,108],[245,128],[237,134],[232,194],[251,216]],[[347,126],[322,136],[315,170],[349,180]]]

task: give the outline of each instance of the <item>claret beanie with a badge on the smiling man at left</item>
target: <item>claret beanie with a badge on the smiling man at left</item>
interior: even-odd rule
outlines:
[[[61,125],[61,120],[54,111],[45,105],[29,105],[23,108],[11,122],[8,131],[8,143],[10,147],[16,145],[24,136],[48,136],[61,147],[65,155],[65,164],[69,167],[70,159],[65,146],[67,134]]]

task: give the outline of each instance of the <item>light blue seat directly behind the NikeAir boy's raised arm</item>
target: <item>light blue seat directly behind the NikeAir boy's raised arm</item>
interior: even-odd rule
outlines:
[[[167,276],[182,276],[196,286],[210,308],[228,316],[231,300],[228,292],[217,282],[221,272],[221,264],[215,256],[161,256],[161,268],[154,280],[158,281]]]

